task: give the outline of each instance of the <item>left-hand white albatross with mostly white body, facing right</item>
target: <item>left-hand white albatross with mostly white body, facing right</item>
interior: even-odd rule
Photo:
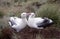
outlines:
[[[9,25],[15,29],[17,32],[26,27],[26,13],[21,14],[21,18],[18,17],[10,17]]]

